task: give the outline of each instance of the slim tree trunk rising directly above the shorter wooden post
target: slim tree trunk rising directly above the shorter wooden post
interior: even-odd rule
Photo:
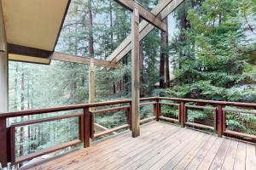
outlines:
[[[92,0],[87,0],[88,2],[88,25],[89,25],[89,54],[94,57],[94,47],[93,47],[93,24],[92,24]]]

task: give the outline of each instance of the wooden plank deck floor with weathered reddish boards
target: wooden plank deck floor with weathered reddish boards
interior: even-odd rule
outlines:
[[[256,169],[256,147],[164,122],[123,133],[32,169]]]

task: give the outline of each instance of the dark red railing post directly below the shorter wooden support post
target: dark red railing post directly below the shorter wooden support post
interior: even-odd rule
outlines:
[[[84,148],[90,147],[90,111],[84,107]]]

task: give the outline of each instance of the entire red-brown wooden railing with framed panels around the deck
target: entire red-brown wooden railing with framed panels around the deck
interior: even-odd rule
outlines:
[[[96,111],[90,111],[90,108],[98,108],[102,106],[110,105],[119,105],[112,108],[104,108]],[[237,103],[237,102],[226,102],[226,101],[213,101],[213,100],[201,100],[201,99],[177,99],[177,98],[162,98],[162,97],[153,97],[153,98],[143,98],[141,99],[141,107],[145,105],[154,105],[153,116],[147,117],[146,119],[141,120],[141,123],[150,122],[152,120],[156,121],[167,121],[175,122],[181,127],[196,127],[200,129],[208,129],[210,131],[215,131],[218,133],[219,137],[223,135],[228,135],[231,137],[245,138],[251,142],[256,142],[256,134],[247,134],[241,132],[231,131],[227,129],[226,126],[226,113],[227,112],[239,112],[241,114],[250,114],[256,116],[255,103]],[[210,106],[209,106],[210,105]],[[161,114],[161,108],[165,106],[176,107],[177,116],[168,117]],[[244,110],[230,110],[225,109],[225,106],[235,106],[239,108],[250,109],[251,111]],[[193,114],[193,111],[208,111],[210,114],[209,122],[189,122],[189,114]],[[68,114],[56,116],[56,112],[60,111],[81,111],[81,113]],[[109,128],[100,133],[95,132],[95,116],[102,114],[115,114],[118,111],[125,111],[125,120],[126,123],[118,127]],[[55,116],[50,116],[48,118],[42,118],[37,120],[30,120],[26,122],[15,122],[7,126],[8,119],[11,117],[19,116],[32,116],[32,115],[41,115],[41,114],[55,114]],[[64,144],[55,145],[45,150],[40,150],[26,156],[15,156],[15,128],[28,126],[36,123],[42,122],[52,122],[63,119],[70,119],[73,117],[79,118],[79,138],[69,141]],[[63,107],[55,107],[49,109],[41,110],[32,110],[32,111],[16,111],[0,114],[0,162],[3,167],[7,166],[8,162],[12,164],[18,164],[23,161],[31,160],[38,156],[43,156],[45,154],[55,152],[56,150],[62,150],[69,146],[75,146],[77,144],[84,144],[84,148],[90,146],[90,139],[97,139],[99,137],[112,134],[122,129],[131,129],[131,100],[118,100],[118,101],[109,101],[101,102],[94,104],[84,104],[84,105],[69,105]]]

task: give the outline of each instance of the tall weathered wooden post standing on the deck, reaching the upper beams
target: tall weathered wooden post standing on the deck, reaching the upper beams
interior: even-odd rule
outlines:
[[[140,65],[139,65],[139,13],[135,7],[131,19],[131,129],[132,137],[140,135]]]

